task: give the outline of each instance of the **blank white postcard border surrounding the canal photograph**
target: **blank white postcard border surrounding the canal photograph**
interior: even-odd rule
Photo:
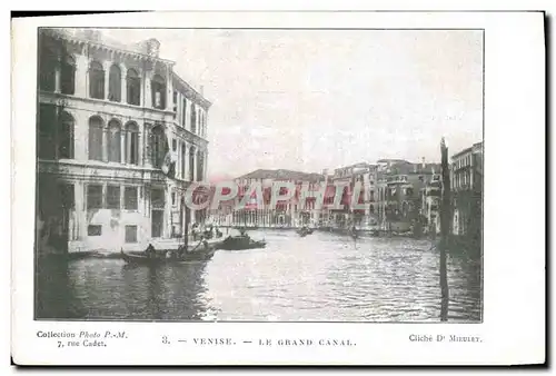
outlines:
[[[485,29],[485,254],[483,324],[228,324],[33,321],[37,26]],[[522,364],[545,357],[543,13],[133,13],[16,20],[12,66],[12,355],[18,364]],[[513,195],[528,176],[535,195]],[[515,182],[514,182],[515,181]],[[518,182],[519,185],[519,182]],[[517,197],[516,197],[517,196]],[[516,198],[527,197],[519,206]],[[508,205],[510,204],[510,205]],[[108,347],[58,348],[38,332],[126,332]],[[480,336],[481,343],[411,343],[410,334]],[[165,345],[185,338],[183,345]],[[193,346],[193,338],[236,346]],[[271,338],[350,339],[350,347],[239,344]]]

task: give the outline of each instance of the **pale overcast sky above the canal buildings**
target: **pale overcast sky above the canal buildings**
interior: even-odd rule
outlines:
[[[105,33],[107,31],[105,30]],[[111,30],[212,101],[209,177],[439,160],[481,140],[480,31]]]

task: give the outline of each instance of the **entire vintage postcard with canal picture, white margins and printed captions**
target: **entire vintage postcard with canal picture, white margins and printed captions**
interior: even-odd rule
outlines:
[[[544,162],[508,123],[544,132],[543,13],[44,17],[12,43],[14,363],[545,362],[544,244],[518,247],[543,218],[499,204]]]

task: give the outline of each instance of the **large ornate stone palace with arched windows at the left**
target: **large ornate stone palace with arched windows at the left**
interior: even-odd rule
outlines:
[[[40,30],[39,250],[140,249],[183,235],[181,197],[206,179],[211,103],[159,49]]]

